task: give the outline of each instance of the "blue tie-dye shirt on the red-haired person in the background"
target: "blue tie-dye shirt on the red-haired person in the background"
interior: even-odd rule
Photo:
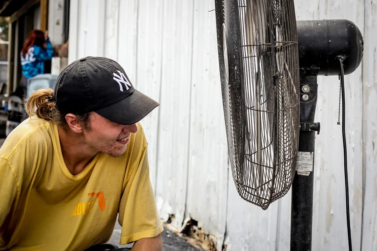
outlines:
[[[46,40],[46,45],[46,50],[43,50],[38,45],[30,47],[25,57],[21,53],[23,76],[30,78],[44,73],[44,61],[51,60],[54,56],[54,49],[49,39]]]

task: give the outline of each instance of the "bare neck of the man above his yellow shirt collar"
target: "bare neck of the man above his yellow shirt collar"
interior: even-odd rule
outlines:
[[[83,135],[66,132],[60,127],[58,133],[65,166],[72,175],[82,173],[97,153],[88,147]]]

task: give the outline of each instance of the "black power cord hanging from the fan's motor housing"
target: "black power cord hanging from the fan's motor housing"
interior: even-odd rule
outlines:
[[[342,136],[343,136],[343,156],[344,156],[344,178],[346,186],[346,214],[347,214],[347,232],[348,232],[348,249],[352,251],[351,240],[351,220],[350,220],[350,195],[348,191],[348,168],[347,168],[347,144],[346,144],[346,98],[344,95],[344,69],[343,57],[338,57],[340,62],[340,89],[342,92]],[[339,106],[340,109],[340,106]],[[339,124],[339,122],[338,122]]]

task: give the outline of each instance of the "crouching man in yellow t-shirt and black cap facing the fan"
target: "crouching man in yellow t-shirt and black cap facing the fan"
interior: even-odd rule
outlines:
[[[110,239],[118,213],[121,244],[162,250],[139,123],[158,105],[99,57],[68,65],[54,91],[34,92],[30,118],[0,149],[0,250],[93,248]]]

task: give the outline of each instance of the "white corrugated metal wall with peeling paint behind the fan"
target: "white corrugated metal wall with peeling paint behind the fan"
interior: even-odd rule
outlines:
[[[288,251],[290,194],[267,211],[243,201],[228,168],[213,0],[71,0],[69,61],[118,60],[161,106],[143,119],[161,216],[187,217],[220,250]],[[377,0],[296,0],[297,19],[349,19],[364,36],[362,65],[346,77],[354,250],[377,250]],[[319,77],[313,250],[347,249],[337,77]]]

